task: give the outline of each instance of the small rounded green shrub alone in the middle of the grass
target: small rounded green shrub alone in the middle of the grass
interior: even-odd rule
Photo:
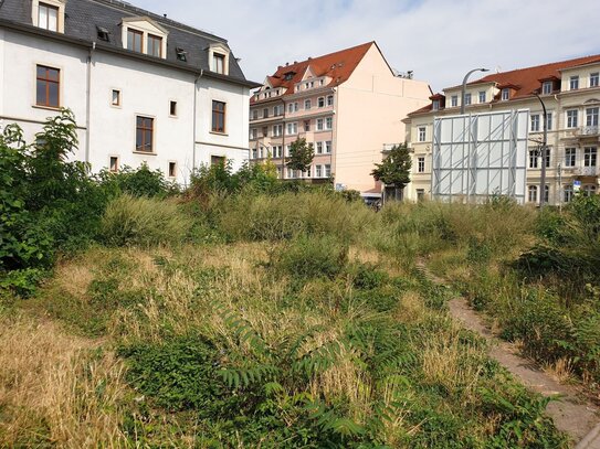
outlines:
[[[345,267],[348,247],[330,236],[302,235],[275,256],[274,268],[295,278],[333,278]]]

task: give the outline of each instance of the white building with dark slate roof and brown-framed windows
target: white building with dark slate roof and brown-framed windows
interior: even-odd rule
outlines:
[[[75,114],[75,158],[146,162],[179,183],[200,164],[249,159],[245,79],[225,40],[116,0],[0,1],[0,124],[28,141]]]

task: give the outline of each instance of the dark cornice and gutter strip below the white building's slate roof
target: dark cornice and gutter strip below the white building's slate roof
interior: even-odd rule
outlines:
[[[218,74],[218,73],[214,73],[214,72],[203,71],[201,68],[189,67],[189,66],[186,66],[183,64],[172,63],[172,62],[169,62],[169,61],[166,61],[166,60],[162,60],[162,58],[148,56],[148,55],[145,55],[143,53],[131,52],[129,50],[106,45],[106,44],[103,44],[102,42],[87,41],[87,40],[84,40],[84,39],[72,38],[72,36],[69,36],[69,35],[62,34],[62,33],[55,33],[53,31],[43,30],[43,29],[40,29],[38,26],[33,26],[33,25],[25,25],[25,24],[13,22],[13,21],[6,20],[6,19],[0,19],[0,28],[11,30],[11,31],[14,31],[14,32],[18,32],[18,33],[22,33],[22,34],[29,34],[29,35],[38,36],[38,38],[44,38],[46,40],[53,40],[55,42],[61,42],[61,43],[65,43],[65,44],[80,46],[80,47],[83,47],[83,49],[87,49],[90,51],[102,51],[102,52],[106,52],[106,53],[117,54],[117,55],[123,56],[123,57],[137,60],[137,61],[143,61],[143,62],[159,65],[159,66],[162,66],[162,67],[173,68],[176,71],[186,72],[186,73],[189,73],[189,74],[196,75],[196,76],[202,76],[202,77],[207,77],[207,78],[219,79],[219,81],[222,81],[222,82],[225,82],[225,83],[235,84],[235,85],[248,87],[248,88],[251,88],[251,89],[260,87],[262,85],[260,83],[254,83],[254,82],[251,82],[251,81],[248,81],[248,79],[240,79],[240,78],[235,78],[233,76],[221,75],[221,74]]]

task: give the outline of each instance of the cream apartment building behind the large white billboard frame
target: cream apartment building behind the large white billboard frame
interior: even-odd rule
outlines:
[[[465,114],[490,110],[529,110],[529,145],[526,171],[526,202],[569,202],[573,192],[598,191],[600,108],[600,55],[579,57],[510,72],[494,73],[467,83]],[[430,104],[409,114],[407,140],[413,153],[412,182],[406,189],[410,200],[431,197],[433,120],[457,115],[462,86],[432,95]],[[543,106],[547,109],[548,152],[540,153],[544,131]],[[544,160],[543,160],[544,159]],[[541,164],[546,185],[540,192]]]

